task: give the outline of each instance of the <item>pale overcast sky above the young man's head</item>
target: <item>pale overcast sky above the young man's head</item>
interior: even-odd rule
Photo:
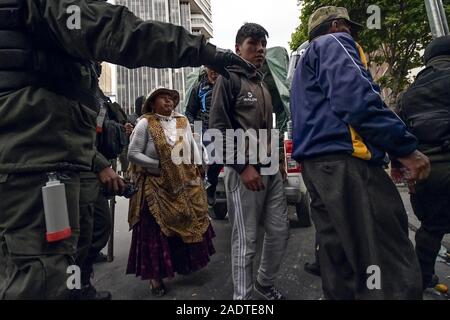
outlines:
[[[282,46],[290,52],[288,41],[300,15],[296,3],[296,0],[212,0],[211,42],[234,51],[236,32],[245,22],[255,22],[269,32],[268,47]]]

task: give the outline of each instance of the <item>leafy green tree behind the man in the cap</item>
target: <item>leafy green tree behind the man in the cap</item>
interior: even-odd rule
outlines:
[[[446,12],[450,12],[450,0],[444,3]],[[385,73],[377,82],[387,89],[386,102],[393,106],[398,94],[409,84],[409,71],[423,64],[422,50],[432,39],[424,0],[303,0],[300,25],[289,43],[292,50],[308,39],[309,16],[327,5],[347,8],[350,18],[363,25],[370,17],[367,13],[370,5],[381,9],[381,29],[364,28],[358,42],[371,66],[383,65]]]

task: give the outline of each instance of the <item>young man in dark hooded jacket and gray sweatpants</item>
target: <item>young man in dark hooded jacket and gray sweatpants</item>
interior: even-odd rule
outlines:
[[[264,246],[254,289],[268,300],[284,298],[274,287],[289,235],[287,203],[278,168],[278,148],[273,146],[278,138],[272,135],[272,140],[268,142],[261,136],[264,132],[269,135],[273,133],[272,99],[259,71],[265,60],[267,36],[267,31],[260,25],[246,23],[241,27],[236,36],[236,53],[258,70],[248,72],[242,68],[229,68],[230,79],[219,77],[212,97],[209,127],[219,129],[223,136],[226,135],[227,142],[225,188],[233,228],[234,299],[252,297],[253,259],[261,220],[265,229]],[[230,137],[230,129],[234,131],[234,137]],[[241,129],[240,133],[238,129]],[[244,139],[241,139],[242,135]],[[249,143],[238,143],[235,147],[235,138],[242,142],[246,140],[245,136],[250,137]],[[258,148],[277,150],[272,152],[269,162],[275,168],[267,168],[265,161],[255,157],[252,149],[256,145]],[[241,152],[238,151],[240,148],[243,149]],[[245,163],[242,163],[239,158],[244,154]],[[252,161],[252,158],[257,161]]]

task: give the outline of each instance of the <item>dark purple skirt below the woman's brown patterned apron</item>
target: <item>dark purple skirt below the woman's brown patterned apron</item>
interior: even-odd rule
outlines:
[[[175,273],[186,275],[205,267],[215,253],[211,225],[202,242],[188,244],[178,236],[164,235],[145,201],[140,216],[133,227],[127,274],[142,280],[172,278]]]

